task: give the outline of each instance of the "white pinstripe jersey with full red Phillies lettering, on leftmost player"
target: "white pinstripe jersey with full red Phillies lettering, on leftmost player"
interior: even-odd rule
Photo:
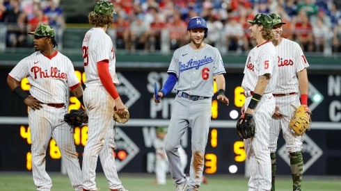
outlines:
[[[36,51],[20,60],[9,75],[17,81],[27,77],[31,95],[43,103],[67,103],[65,86],[79,83],[71,60],[58,51],[49,57]]]

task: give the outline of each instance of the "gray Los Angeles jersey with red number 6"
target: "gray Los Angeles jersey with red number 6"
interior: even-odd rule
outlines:
[[[203,49],[195,51],[187,44],[174,51],[168,73],[177,75],[175,90],[212,97],[214,76],[226,72],[218,49],[205,44]]]

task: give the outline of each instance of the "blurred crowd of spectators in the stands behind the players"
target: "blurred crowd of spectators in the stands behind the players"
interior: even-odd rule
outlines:
[[[78,24],[86,24],[95,0],[74,1],[88,4]],[[283,37],[298,42],[303,51],[331,56],[341,53],[340,0],[116,0],[116,15],[110,35],[116,49],[125,51],[174,50],[189,42],[187,22],[200,16],[207,20],[208,44],[221,53],[243,53],[255,46],[250,39],[248,22],[257,13],[282,16]],[[63,31],[77,23],[68,22],[72,15],[66,0],[0,0],[0,36],[6,36],[6,47],[31,47],[34,31],[40,23]],[[78,5],[73,5],[78,6]],[[79,5],[80,7],[80,5]],[[85,18],[85,19],[84,19]],[[66,23],[66,24],[65,24]],[[90,26],[86,26],[90,27]],[[6,28],[6,29],[5,29]],[[80,34],[83,35],[83,34]],[[1,38],[1,37],[0,37]]]

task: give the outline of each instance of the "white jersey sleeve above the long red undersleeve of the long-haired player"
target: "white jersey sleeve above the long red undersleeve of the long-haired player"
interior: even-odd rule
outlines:
[[[112,41],[108,35],[102,35],[95,47],[96,63],[102,60],[109,60],[111,56]]]

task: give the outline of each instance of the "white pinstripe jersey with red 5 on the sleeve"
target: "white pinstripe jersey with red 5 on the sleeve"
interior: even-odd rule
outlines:
[[[251,49],[248,53],[246,65],[244,68],[244,78],[241,87],[244,91],[255,90],[258,77],[264,74],[271,74],[269,84],[265,88],[264,93],[273,92],[277,81],[277,53],[272,42],[267,41]]]

